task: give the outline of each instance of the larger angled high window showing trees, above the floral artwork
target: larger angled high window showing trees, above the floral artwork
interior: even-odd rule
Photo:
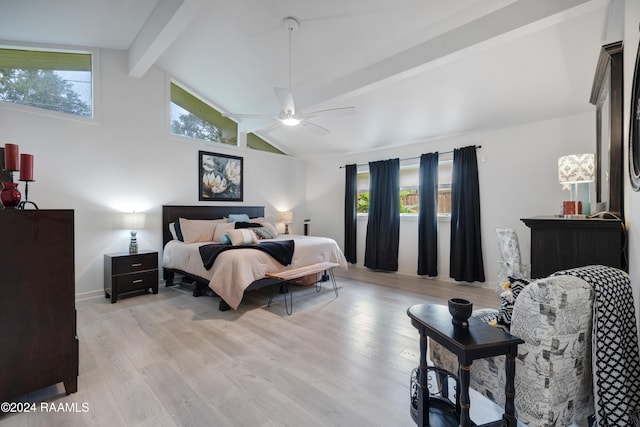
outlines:
[[[238,125],[215,108],[171,83],[171,133],[220,144],[238,145]]]

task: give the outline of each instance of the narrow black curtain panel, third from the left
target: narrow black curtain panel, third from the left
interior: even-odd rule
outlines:
[[[438,275],[438,153],[420,156],[418,275]]]

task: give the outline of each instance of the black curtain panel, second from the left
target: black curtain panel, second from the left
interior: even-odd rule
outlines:
[[[398,271],[400,159],[369,163],[369,221],[365,267]]]

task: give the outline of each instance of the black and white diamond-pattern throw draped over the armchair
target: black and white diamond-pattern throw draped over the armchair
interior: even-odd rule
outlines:
[[[595,427],[640,423],[640,355],[629,276],[601,265],[559,271],[589,283],[593,304]]]

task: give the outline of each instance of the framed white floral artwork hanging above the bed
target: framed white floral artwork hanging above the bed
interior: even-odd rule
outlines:
[[[242,201],[242,157],[198,152],[198,200]]]

